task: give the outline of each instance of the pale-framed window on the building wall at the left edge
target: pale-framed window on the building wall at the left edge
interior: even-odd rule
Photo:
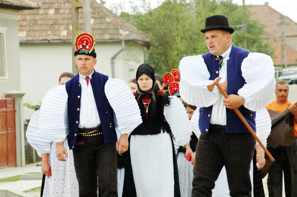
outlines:
[[[5,31],[6,28],[0,27],[0,79],[8,79],[6,67]]]

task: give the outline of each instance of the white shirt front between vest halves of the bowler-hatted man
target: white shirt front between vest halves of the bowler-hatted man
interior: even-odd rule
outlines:
[[[222,77],[220,83],[227,80],[227,60],[231,52],[232,45],[222,55],[224,59],[222,62],[222,68],[220,69],[219,77]],[[219,58],[219,56],[217,56]],[[212,112],[210,116],[210,124],[226,125],[226,107],[223,104],[224,96],[220,94],[220,98],[212,105]]]

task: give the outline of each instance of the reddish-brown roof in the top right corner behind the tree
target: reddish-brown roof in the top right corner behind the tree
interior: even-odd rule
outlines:
[[[264,36],[281,36],[281,17],[284,17],[286,25],[285,35],[297,36],[297,23],[289,17],[283,16],[281,13],[270,7],[268,3],[265,3],[264,5],[248,5],[247,8],[253,19],[258,19],[260,23],[266,26]]]

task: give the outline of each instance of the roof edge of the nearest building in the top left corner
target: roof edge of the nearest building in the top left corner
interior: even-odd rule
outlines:
[[[39,3],[30,0],[0,0],[1,8],[9,9],[35,9],[39,8]]]

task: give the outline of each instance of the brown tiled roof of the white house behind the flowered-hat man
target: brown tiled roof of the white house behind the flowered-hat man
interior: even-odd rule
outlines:
[[[41,0],[41,8],[20,14],[20,42],[71,41],[71,0]],[[92,33],[96,40],[135,40],[148,44],[148,37],[103,5],[91,0]],[[79,29],[83,31],[83,14],[79,9]]]

